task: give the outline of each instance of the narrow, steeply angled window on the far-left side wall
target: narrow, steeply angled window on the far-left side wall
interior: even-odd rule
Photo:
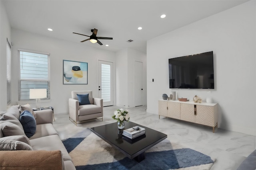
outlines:
[[[7,39],[7,55],[6,55],[6,82],[7,82],[7,106],[11,105],[11,58],[12,58],[12,53],[11,53],[11,45]]]

